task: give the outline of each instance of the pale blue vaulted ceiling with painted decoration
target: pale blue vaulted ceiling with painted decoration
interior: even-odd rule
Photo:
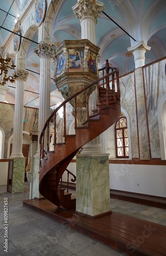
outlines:
[[[0,46],[14,29],[15,20],[33,0],[0,0]],[[50,2],[50,1],[48,1]],[[81,27],[72,7],[77,0],[59,0],[61,2],[52,25],[51,44],[56,45],[65,39],[81,39]],[[101,66],[109,59],[112,66],[119,68],[120,75],[134,70],[133,55],[128,54],[127,48],[139,43],[140,40],[151,47],[146,52],[145,64],[166,56],[166,1],[165,0],[101,0],[104,3],[104,13],[101,13],[96,25],[96,45],[100,48]],[[9,31],[8,31],[9,30]],[[33,38],[38,42],[38,30]],[[30,75],[25,83],[24,105],[39,107],[39,74],[40,59],[34,53],[37,46],[30,43],[26,55],[26,69]],[[62,101],[62,96],[53,81],[54,67],[51,65],[51,105]],[[6,100],[14,103],[15,84],[8,83],[10,90]]]

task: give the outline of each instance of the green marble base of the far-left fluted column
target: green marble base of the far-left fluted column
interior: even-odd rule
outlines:
[[[24,190],[25,159],[14,158],[11,193],[20,193]]]

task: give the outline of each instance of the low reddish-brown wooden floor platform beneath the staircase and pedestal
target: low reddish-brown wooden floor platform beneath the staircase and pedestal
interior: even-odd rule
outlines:
[[[166,255],[166,227],[112,212],[97,218],[58,208],[46,199],[23,205],[127,255]]]

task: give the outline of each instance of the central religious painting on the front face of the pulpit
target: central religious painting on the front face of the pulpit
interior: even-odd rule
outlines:
[[[82,68],[83,49],[69,49],[69,72],[83,71]]]

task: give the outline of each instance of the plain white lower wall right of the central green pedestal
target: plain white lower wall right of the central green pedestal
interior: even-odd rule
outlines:
[[[166,197],[165,165],[109,164],[109,179],[111,189]]]

